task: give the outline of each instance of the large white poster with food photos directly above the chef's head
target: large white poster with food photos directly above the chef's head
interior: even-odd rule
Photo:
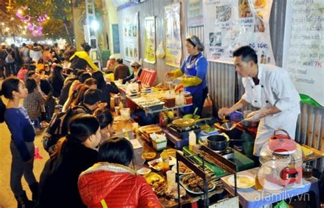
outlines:
[[[207,59],[232,63],[233,51],[249,45],[259,63],[275,64],[269,31],[271,5],[272,0],[204,0]]]

